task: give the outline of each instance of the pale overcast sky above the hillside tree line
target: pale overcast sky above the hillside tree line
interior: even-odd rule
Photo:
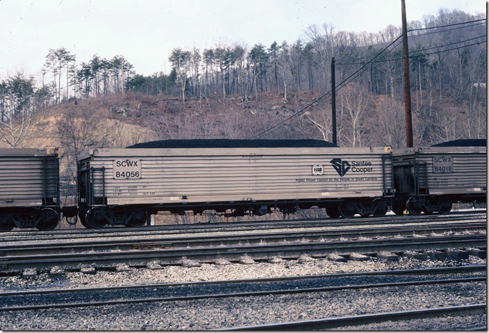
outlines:
[[[481,0],[406,0],[408,21],[440,8],[486,13]],[[0,79],[38,77],[49,49],[77,63],[123,55],[138,74],[169,72],[169,53],[244,42],[295,42],[313,24],[376,33],[401,25],[400,0],[0,0]]]

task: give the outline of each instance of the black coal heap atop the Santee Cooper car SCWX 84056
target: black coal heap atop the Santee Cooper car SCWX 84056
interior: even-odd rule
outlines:
[[[148,143],[136,143],[127,148],[313,148],[338,147],[322,140],[233,140],[233,139],[196,139],[196,140],[159,140]]]

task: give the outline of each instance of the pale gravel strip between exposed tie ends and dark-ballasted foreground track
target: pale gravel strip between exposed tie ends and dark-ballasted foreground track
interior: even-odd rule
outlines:
[[[273,259],[272,259],[273,260]],[[229,261],[227,261],[229,263]],[[260,277],[283,277],[322,275],[371,270],[394,270],[422,267],[444,267],[461,265],[485,265],[486,260],[470,256],[469,259],[444,261],[435,259],[410,259],[399,257],[399,261],[372,258],[368,261],[329,261],[326,258],[305,260],[274,260],[274,263],[230,263],[224,265],[204,263],[198,267],[164,266],[162,269],[131,269],[125,272],[98,271],[96,274],[66,272],[60,277],[42,273],[33,277],[0,277],[0,290],[27,290],[53,288],[80,288],[96,286],[124,286],[131,284],[156,284],[171,282],[217,281],[230,279],[256,279]]]

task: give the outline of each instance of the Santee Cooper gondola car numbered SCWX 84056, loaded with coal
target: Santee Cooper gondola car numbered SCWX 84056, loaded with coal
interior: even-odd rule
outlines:
[[[388,211],[390,147],[251,141],[169,140],[145,146],[154,148],[85,151],[78,158],[81,222],[138,226],[158,211],[260,216],[319,206],[331,217]]]

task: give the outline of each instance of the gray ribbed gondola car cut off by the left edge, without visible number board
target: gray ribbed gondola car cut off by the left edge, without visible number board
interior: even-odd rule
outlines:
[[[60,216],[58,150],[0,149],[0,231],[51,230]]]

